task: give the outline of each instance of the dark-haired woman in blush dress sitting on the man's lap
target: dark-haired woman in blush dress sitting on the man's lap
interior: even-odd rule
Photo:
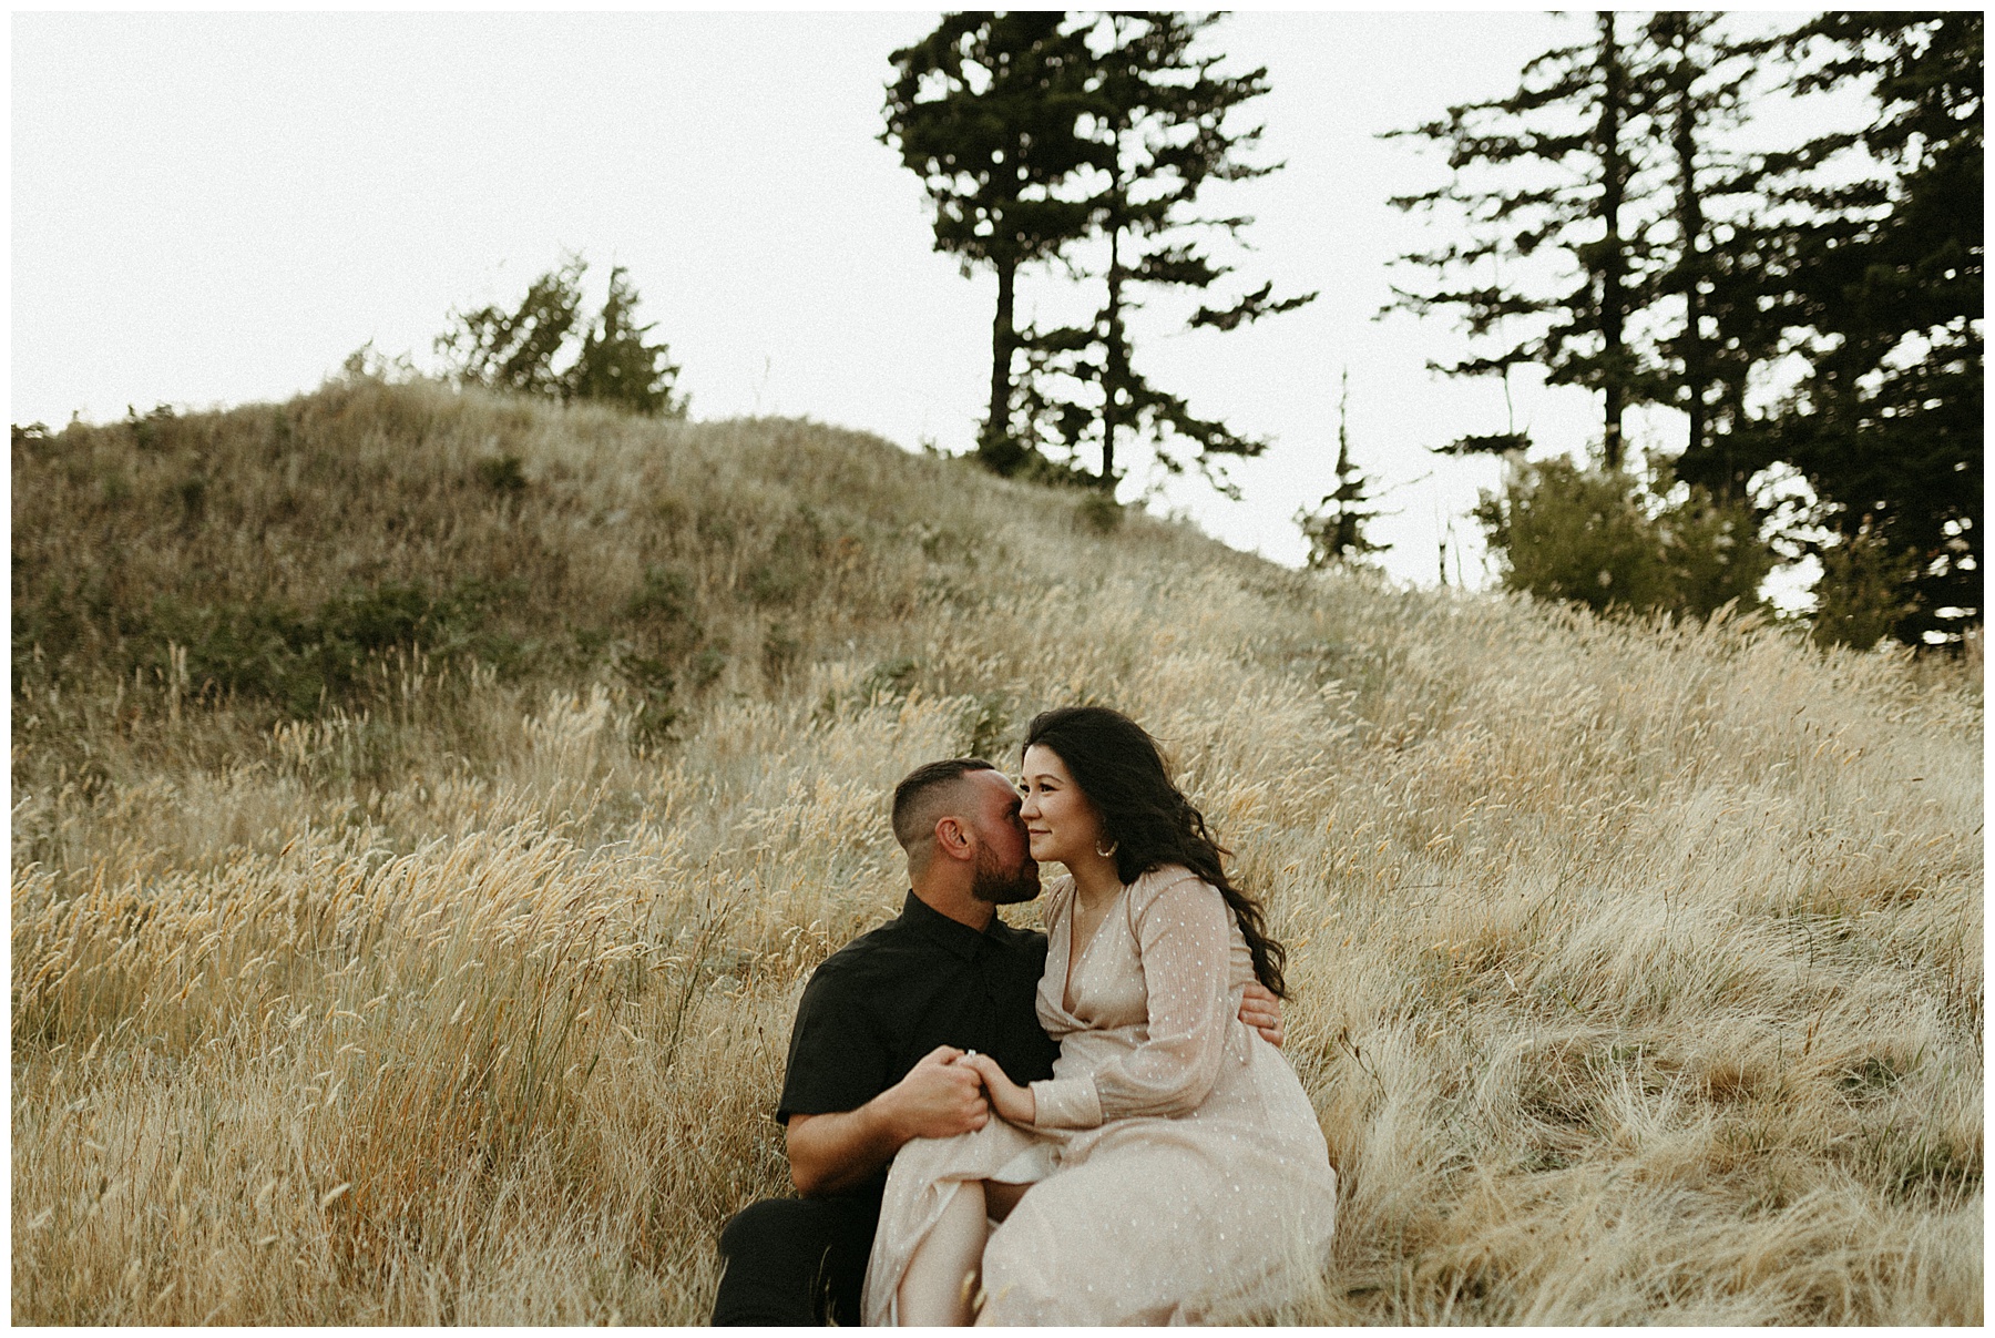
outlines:
[[[1219,1322],[1277,1302],[1321,1268],[1337,1202],[1295,1071],[1237,1017],[1249,979],[1285,993],[1285,953],[1127,716],[1037,716],[1021,788],[1033,859],[1067,867],[1037,1001],[1059,1061],[1029,1087],[958,1061],[1003,1119],[900,1151],[866,1322]]]

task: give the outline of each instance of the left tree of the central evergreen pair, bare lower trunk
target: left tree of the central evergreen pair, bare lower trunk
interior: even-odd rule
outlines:
[[[1077,134],[1087,48],[1059,10],[946,14],[922,42],[894,52],[882,142],[928,187],[936,249],[998,275],[990,411],[978,453],[998,473],[1029,455],[1013,419],[1017,271],[1087,235],[1093,209],[1057,187],[1101,164]]]

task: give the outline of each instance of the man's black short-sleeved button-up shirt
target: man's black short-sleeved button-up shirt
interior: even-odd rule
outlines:
[[[938,1045],[996,1059],[1013,1083],[1053,1077],[1059,1045],[1033,997],[1045,935],[996,915],[982,933],[908,893],[896,919],[824,959],[804,987],[776,1119],[856,1111]],[[886,1172],[854,1192],[878,1194]]]

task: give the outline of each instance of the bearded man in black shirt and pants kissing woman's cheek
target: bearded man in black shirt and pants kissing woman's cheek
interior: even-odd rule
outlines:
[[[804,987],[776,1109],[804,1196],[750,1204],[722,1228],[714,1324],[858,1324],[894,1155],[990,1121],[976,1071],[956,1059],[990,1055],[1015,1083],[1053,1075],[1059,1047],[1033,1007],[1045,935],[998,919],[1039,893],[1017,812],[1017,790],[980,758],[930,762],[894,788],[908,899]],[[1257,985],[1241,1021],[1281,1045],[1279,1003]]]

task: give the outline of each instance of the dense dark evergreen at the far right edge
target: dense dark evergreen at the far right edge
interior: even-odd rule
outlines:
[[[1911,572],[1891,634],[1953,640],[1983,602],[1983,16],[1835,12],[1782,46],[1797,90],[1865,88],[1877,118],[1770,164],[1799,221],[1772,249],[1762,305],[1803,331],[1809,371],[1764,453],[1813,487],[1831,548],[1885,554],[1825,552],[1829,578]]]

